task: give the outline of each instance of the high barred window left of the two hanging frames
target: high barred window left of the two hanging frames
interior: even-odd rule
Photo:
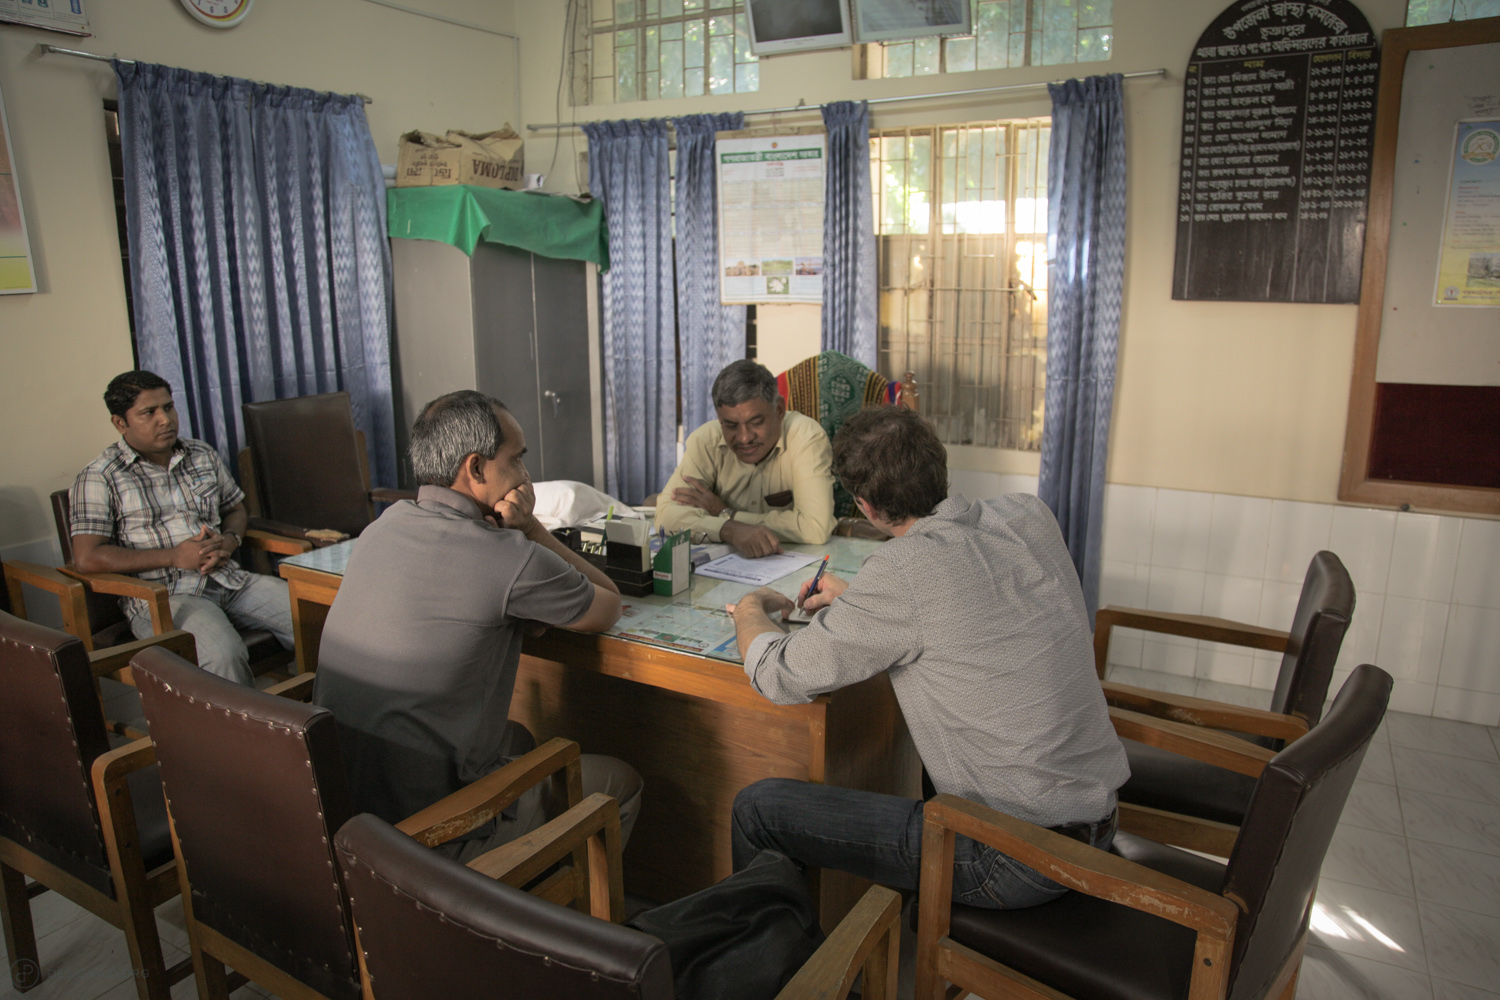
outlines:
[[[586,0],[573,31],[573,102],[752,93],[742,0]]]

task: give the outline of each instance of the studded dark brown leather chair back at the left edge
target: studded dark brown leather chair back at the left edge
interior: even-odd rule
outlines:
[[[110,750],[78,639],[0,612],[0,837],[114,895],[90,771]]]

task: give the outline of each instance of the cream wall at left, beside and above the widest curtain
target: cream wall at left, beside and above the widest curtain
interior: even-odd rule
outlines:
[[[516,33],[513,0],[402,0]],[[382,162],[414,127],[483,130],[516,115],[516,42],[368,3],[260,0],[231,30],[177,0],[90,3],[93,37],[0,25],[0,93],[40,292],[0,297],[0,547],[52,535],[46,495],[112,439],[105,384],[132,366],[100,102],[105,63],[50,42],[250,79],[363,93]]]

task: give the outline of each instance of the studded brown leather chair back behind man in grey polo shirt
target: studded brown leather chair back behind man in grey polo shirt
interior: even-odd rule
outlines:
[[[333,835],[351,814],[333,714],[164,649],[130,666],[192,919],[333,1000],[360,993]]]

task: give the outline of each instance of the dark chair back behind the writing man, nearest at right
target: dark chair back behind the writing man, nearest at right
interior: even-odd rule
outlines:
[[[1390,675],[1354,669],[1328,718],[1266,765],[1224,871],[1224,895],[1244,906],[1228,1000],[1263,997],[1306,927],[1323,856],[1384,718]]]

